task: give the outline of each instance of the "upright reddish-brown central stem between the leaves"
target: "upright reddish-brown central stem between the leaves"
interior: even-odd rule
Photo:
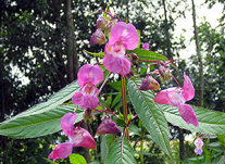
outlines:
[[[122,102],[123,102],[123,115],[125,124],[128,123],[127,119],[127,103],[126,103],[126,78],[121,78],[121,87],[122,87]],[[125,137],[129,140],[129,131],[128,128],[125,129]]]

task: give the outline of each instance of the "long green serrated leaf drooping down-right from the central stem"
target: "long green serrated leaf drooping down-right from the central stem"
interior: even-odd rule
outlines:
[[[128,94],[138,117],[159,147],[171,156],[170,133],[163,113],[152,101],[152,91],[140,91],[140,79],[128,80]]]

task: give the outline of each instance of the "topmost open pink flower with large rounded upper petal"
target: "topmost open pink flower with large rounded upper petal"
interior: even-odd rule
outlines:
[[[104,47],[105,68],[122,76],[129,73],[132,64],[125,56],[126,50],[134,50],[138,42],[139,36],[134,25],[116,23],[111,29],[109,43]]]

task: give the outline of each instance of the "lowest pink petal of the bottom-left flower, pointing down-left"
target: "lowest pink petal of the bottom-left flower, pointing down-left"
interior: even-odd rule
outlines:
[[[66,159],[73,150],[73,144],[70,142],[61,143],[55,147],[55,149],[49,154],[48,159]]]

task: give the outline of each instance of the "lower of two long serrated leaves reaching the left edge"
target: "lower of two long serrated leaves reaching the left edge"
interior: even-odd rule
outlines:
[[[73,112],[76,105],[61,105],[50,111],[17,117],[2,123],[0,135],[11,138],[34,138],[46,136],[61,130],[61,118],[65,113]],[[84,113],[77,113],[75,123],[83,119]]]

